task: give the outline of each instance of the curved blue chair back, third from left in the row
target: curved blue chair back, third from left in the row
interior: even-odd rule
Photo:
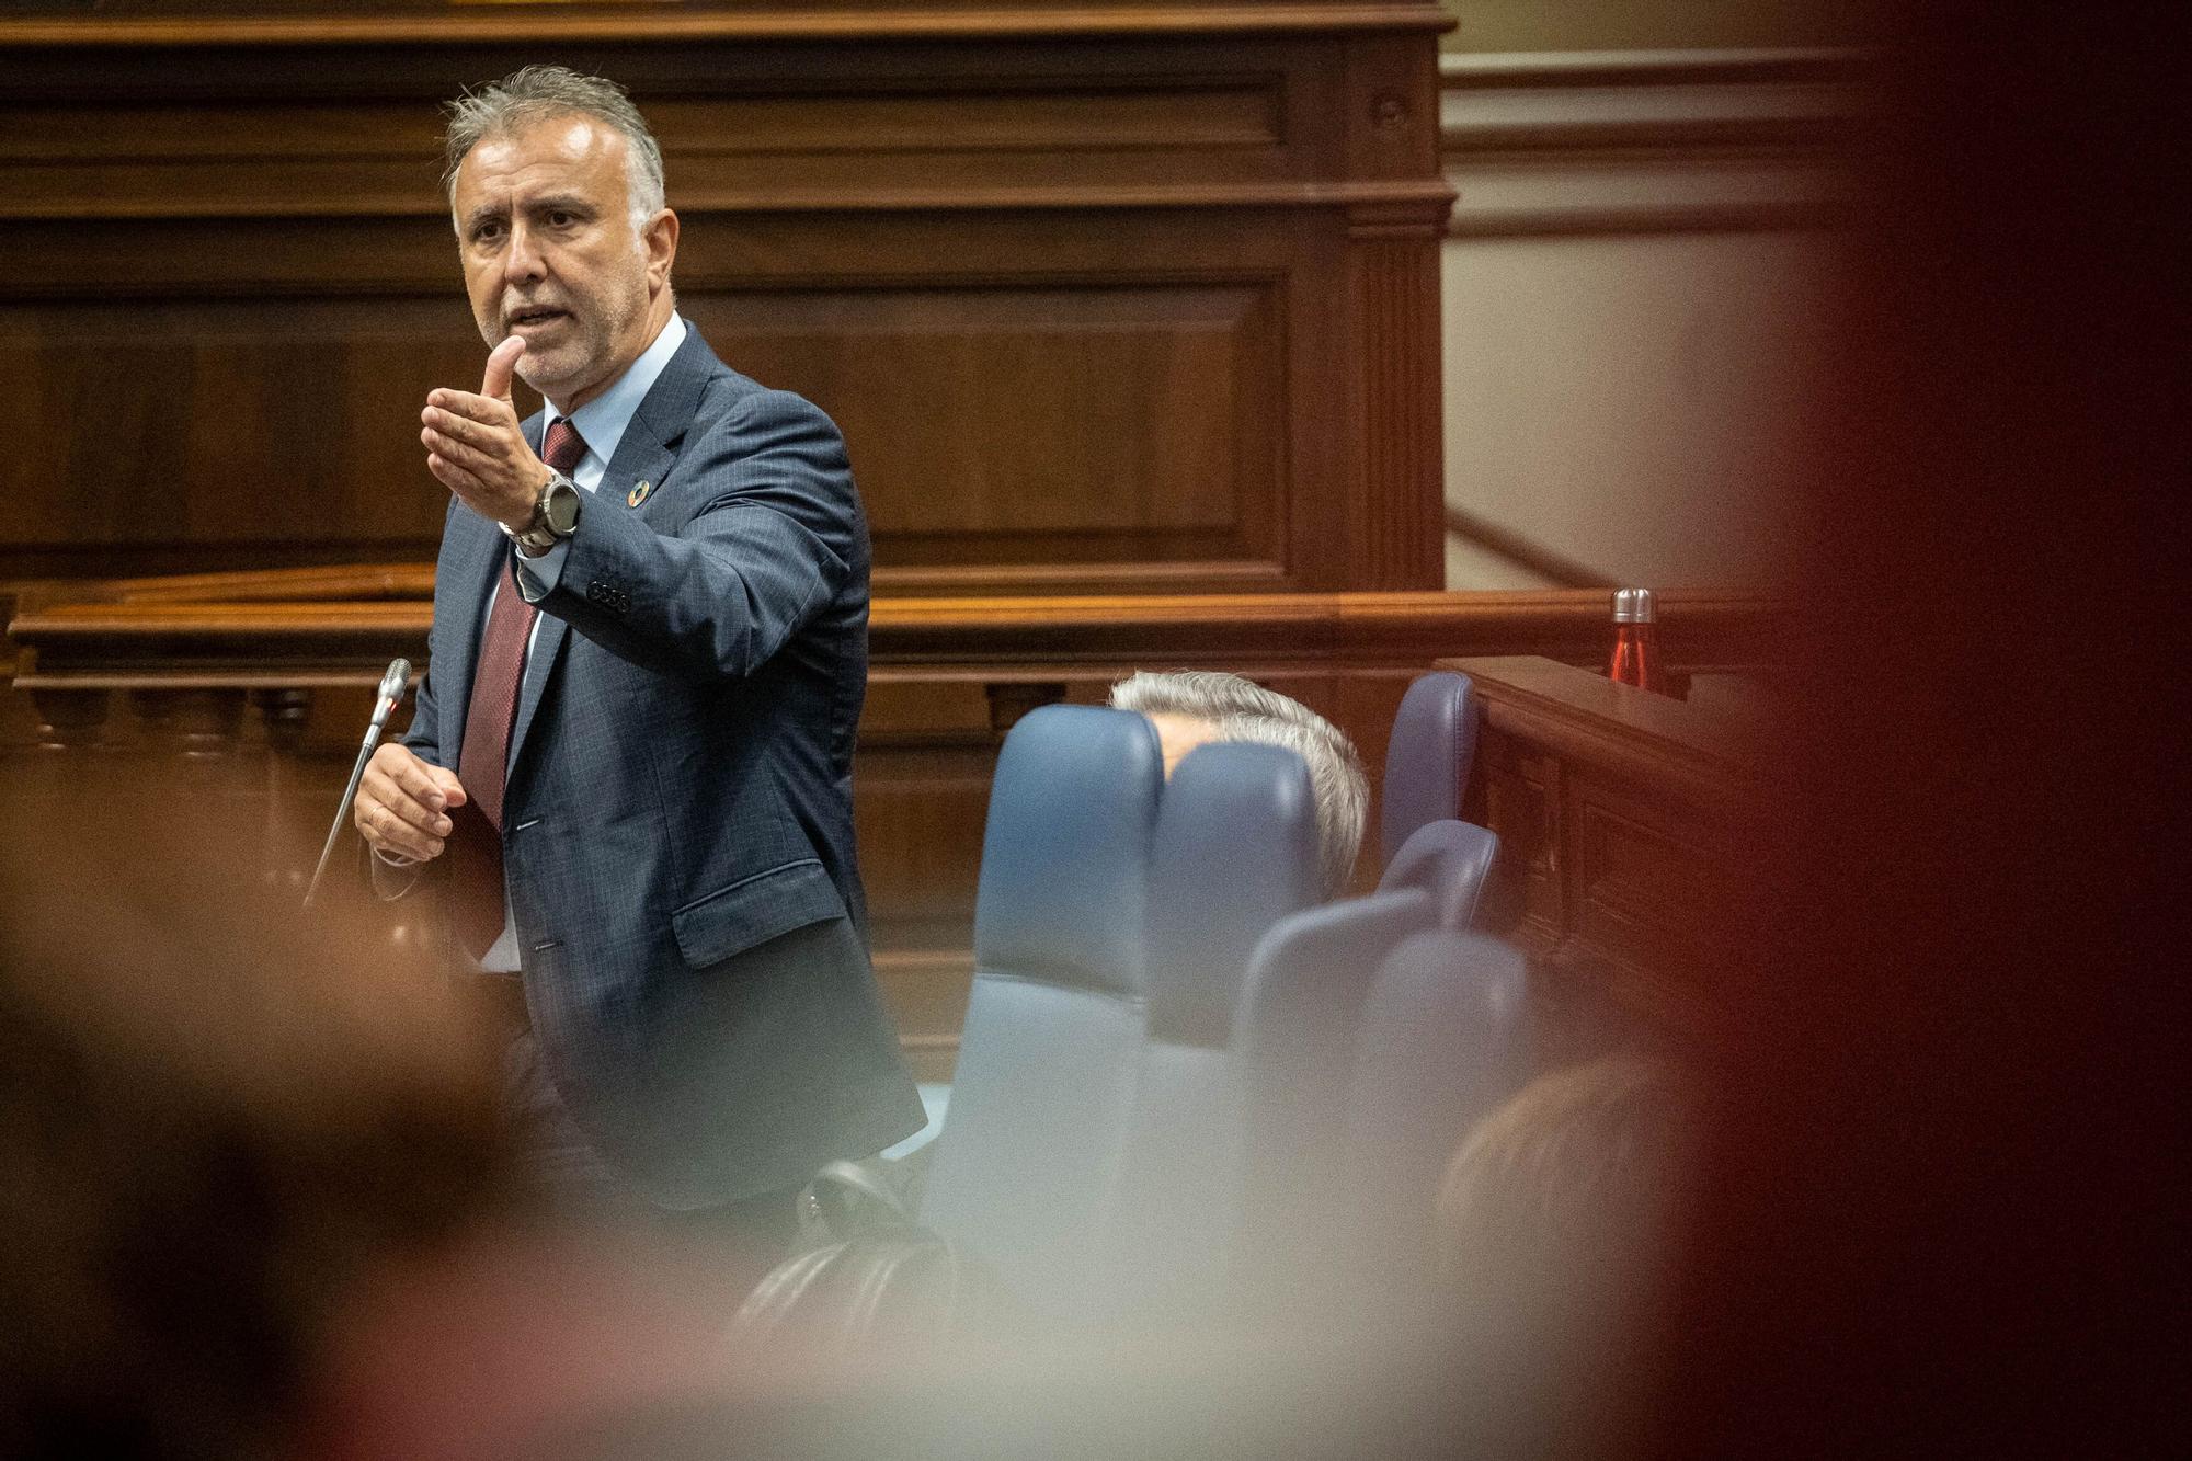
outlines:
[[[1431,928],[1423,888],[1372,893],[1280,919],[1256,945],[1234,1011],[1243,1176],[1236,1286],[1249,1303],[1309,1301],[1346,1204],[1331,1163],[1346,1132],[1355,1031],[1392,948]]]

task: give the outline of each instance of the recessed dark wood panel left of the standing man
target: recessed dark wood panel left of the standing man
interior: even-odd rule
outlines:
[[[476,373],[445,296],[0,307],[4,573],[430,555],[419,382]]]

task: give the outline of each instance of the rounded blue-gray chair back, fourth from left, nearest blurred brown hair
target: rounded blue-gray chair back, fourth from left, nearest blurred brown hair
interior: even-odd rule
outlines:
[[[1379,965],[1335,1160],[1346,1292],[1370,1314],[1392,1316],[1434,1288],[1447,1163],[1534,1068],[1528,989],[1521,950],[1482,935],[1420,932]]]

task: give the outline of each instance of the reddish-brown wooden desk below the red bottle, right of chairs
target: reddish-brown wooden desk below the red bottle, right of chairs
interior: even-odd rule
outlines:
[[[1556,985],[1714,1033],[1780,845],[1762,730],[1548,658],[1438,665],[1475,682],[1464,814],[1499,834],[1502,932]]]

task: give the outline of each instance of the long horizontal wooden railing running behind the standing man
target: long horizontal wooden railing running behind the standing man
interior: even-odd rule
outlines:
[[[15,687],[42,706],[140,691],[370,684],[401,654],[423,667],[434,575],[416,564],[213,573],[26,594],[9,623]],[[1762,665],[1771,610],[1754,594],[1662,594],[1677,676]],[[1149,665],[1423,667],[1453,654],[1537,654],[1591,665],[1607,652],[1607,594],[1339,592],[875,601],[870,656],[907,669],[1032,669],[1068,680]],[[68,726],[99,724],[79,709]],[[61,737],[57,744],[68,744]]]

